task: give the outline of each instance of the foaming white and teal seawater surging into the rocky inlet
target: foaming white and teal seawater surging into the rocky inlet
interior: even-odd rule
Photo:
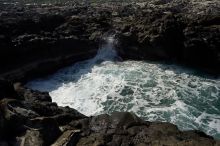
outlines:
[[[220,79],[197,76],[175,65],[119,62],[114,39],[86,61],[64,68],[28,87],[49,91],[53,102],[90,116],[129,111],[182,130],[199,129],[220,138]]]

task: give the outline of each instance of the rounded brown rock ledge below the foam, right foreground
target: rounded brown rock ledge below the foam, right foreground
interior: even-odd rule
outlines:
[[[92,145],[215,145],[213,138],[197,131],[181,132],[170,123],[145,122],[131,113],[99,115],[79,121],[81,138],[77,146]],[[72,122],[74,126],[77,122]],[[76,124],[76,125],[79,125]],[[85,125],[85,127],[83,126]],[[216,144],[217,145],[217,144]]]

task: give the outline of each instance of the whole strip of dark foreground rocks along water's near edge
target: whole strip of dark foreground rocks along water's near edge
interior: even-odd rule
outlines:
[[[0,145],[180,145],[218,146],[197,130],[180,131],[170,123],[147,122],[133,113],[86,117],[59,107],[46,92],[0,81]],[[4,91],[4,92],[2,92]]]

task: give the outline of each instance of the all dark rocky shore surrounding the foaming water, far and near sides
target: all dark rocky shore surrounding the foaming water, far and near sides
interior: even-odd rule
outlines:
[[[220,145],[201,131],[132,113],[86,117],[23,87],[94,56],[112,30],[123,59],[172,61],[219,75],[218,0],[0,8],[0,145]]]

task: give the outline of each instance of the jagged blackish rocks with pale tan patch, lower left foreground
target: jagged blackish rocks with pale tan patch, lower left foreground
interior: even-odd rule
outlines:
[[[69,107],[58,107],[48,93],[22,87],[16,92],[20,100],[0,101],[0,140],[12,142],[19,137],[20,144],[50,145],[61,135],[59,126],[86,118]]]

